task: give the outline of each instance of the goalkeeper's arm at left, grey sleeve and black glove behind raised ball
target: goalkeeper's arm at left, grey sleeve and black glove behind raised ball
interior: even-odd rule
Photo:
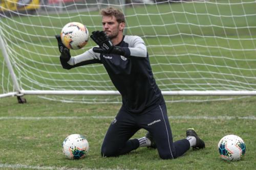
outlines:
[[[63,68],[71,69],[82,65],[101,63],[99,54],[95,54],[92,49],[86,51],[81,55],[71,57],[69,49],[65,45],[63,45],[60,36],[56,35],[55,37],[58,41],[58,48],[60,52],[59,59]]]

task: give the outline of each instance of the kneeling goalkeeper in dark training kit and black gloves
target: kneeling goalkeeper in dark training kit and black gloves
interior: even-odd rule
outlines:
[[[148,147],[157,148],[162,159],[174,159],[190,147],[204,148],[204,141],[194,129],[186,131],[186,138],[173,142],[166,105],[153,77],[144,41],[138,36],[123,35],[125,18],[121,11],[109,7],[102,9],[101,15],[103,31],[91,35],[98,46],[81,55],[71,57],[56,36],[63,68],[103,64],[121,93],[122,106],[105,134],[101,155],[119,156]],[[144,137],[130,139],[142,128],[148,131]]]

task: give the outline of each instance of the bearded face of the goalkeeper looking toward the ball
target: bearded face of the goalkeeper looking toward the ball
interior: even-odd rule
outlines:
[[[116,20],[115,16],[102,16],[103,31],[108,35],[110,39],[116,38],[122,29],[120,24]]]

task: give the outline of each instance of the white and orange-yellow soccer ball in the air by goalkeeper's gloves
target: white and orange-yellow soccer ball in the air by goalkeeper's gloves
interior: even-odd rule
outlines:
[[[89,31],[82,23],[70,22],[62,28],[60,38],[67,48],[78,50],[87,44]]]

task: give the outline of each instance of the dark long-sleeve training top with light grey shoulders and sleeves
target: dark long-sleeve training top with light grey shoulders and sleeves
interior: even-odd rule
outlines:
[[[131,113],[142,113],[157,107],[162,94],[153,77],[144,41],[138,36],[123,36],[117,46],[123,47],[125,57],[115,54],[94,53],[92,48],[67,61],[60,58],[63,68],[101,63],[114,86],[122,95],[123,107]]]

